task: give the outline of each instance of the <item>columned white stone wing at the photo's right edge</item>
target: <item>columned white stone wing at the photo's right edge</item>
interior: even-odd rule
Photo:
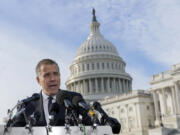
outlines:
[[[150,92],[155,107],[155,125],[180,128],[180,64],[171,70],[153,75]]]

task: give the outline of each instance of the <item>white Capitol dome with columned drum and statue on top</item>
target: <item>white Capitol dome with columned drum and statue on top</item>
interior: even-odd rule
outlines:
[[[93,9],[90,34],[77,50],[70,66],[67,89],[81,93],[86,100],[99,100],[132,91],[132,78],[116,47],[99,30]]]

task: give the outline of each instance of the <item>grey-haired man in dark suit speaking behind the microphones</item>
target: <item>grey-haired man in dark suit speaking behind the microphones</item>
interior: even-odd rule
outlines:
[[[46,126],[49,123],[49,108],[52,103],[56,102],[56,94],[60,87],[60,72],[58,64],[51,59],[43,59],[36,66],[36,80],[42,87],[40,98],[35,101],[31,101],[30,105],[34,106],[34,113],[39,114],[39,118],[36,121],[35,126]],[[79,93],[64,91],[70,95],[70,100],[73,96],[80,95]],[[81,96],[81,95],[80,95]],[[28,106],[28,104],[27,104]],[[29,107],[31,108],[31,107]],[[59,105],[59,111],[55,118],[55,126],[63,126],[65,124],[65,106]],[[84,120],[86,125],[91,124],[90,119]],[[14,121],[13,126],[25,126],[25,120],[21,115]]]

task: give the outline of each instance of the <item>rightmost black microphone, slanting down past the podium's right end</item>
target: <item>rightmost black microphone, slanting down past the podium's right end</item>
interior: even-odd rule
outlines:
[[[101,123],[111,126],[113,134],[119,134],[121,130],[120,123],[115,119],[109,117],[105,111],[102,109],[101,104],[99,102],[93,103],[93,108],[97,110],[101,114]]]

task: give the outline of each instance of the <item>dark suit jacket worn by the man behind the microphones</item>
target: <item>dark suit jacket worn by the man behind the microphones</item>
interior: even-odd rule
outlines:
[[[70,98],[70,100],[72,101],[72,98],[74,96],[81,96],[81,94],[76,93],[76,92],[70,92],[67,90],[61,90],[64,91],[66,94],[68,94],[68,97]],[[44,108],[43,108],[43,97],[42,97],[42,92],[40,92],[40,98],[36,101],[31,101],[30,103],[28,103],[26,106],[35,106],[32,107],[35,110],[33,111],[34,114],[39,114],[38,116],[38,120],[36,121],[34,126],[46,126],[46,120],[45,120],[45,114],[44,114]],[[29,107],[28,108],[31,108]],[[31,114],[30,114],[31,115]],[[59,113],[57,114],[57,117],[55,119],[54,125],[53,126],[64,126],[65,124],[65,106],[64,105],[59,105]],[[83,124],[85,125],[91,125],[91,119],[87,116],[85,116],[83,118]],[[23,127],[26,125],[25,119],[23,115],[20,115],[18,118],[16,118],[13,122],[12,126],[15,127]]]

